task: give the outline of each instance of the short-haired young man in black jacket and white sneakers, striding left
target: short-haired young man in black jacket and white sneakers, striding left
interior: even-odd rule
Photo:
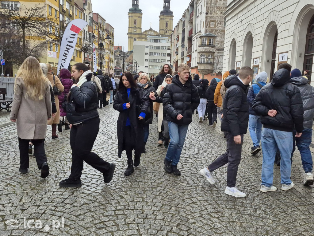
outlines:
[[[236,188],[236,176],[241,161],[243,134],[247,131],[249,121],[249,104],[246,96],[251,81],[252,69],[248,66],[241,68],[239,76],[231,75],[225,80],[225,87],[228,90],[223,103],[224,119],[221,122],[221,131],[227,139],[227,150],[207,168],[201,170],[201,174],[207,178],[208,182],[214,184],[212,171],[228,164],[225,194],[237,198],[246,196]]]

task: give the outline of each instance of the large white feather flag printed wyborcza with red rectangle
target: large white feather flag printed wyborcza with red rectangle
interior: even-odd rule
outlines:
[[[88,23],[85,20],[75,19],[70,21],[65,29],[60,47],[57,75],[62,68],[68,68],[73,56],[78,33],[81,32],[87,24]]]

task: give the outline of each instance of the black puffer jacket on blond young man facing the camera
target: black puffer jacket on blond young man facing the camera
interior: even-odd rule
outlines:
[[[192,110],[198,107],[200,98],[196,87],[192,83],[192,77],[185,84],[175,75],[172,83],[166,86],[166,92],[163,98],[164,111],[167,113],[167,121],[178,125],[188,125],[192,122]],[[177,120],[176,117],[181,114],[183,118]]]

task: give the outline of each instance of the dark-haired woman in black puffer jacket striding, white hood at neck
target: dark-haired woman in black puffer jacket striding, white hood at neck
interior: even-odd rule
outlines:
[[[69,178],[62,180],[59,183],[60,187],[82,186],[83,161],[102,172],[105,183],[109,183],[113,177],[116,165],[91,152],[100,123],[97,111],[98,94],[95,83],[91,81],[92,76],[93,72],[88,70],[84,63],[77,63],[72,68],[72,77],[75,81],[67,98],[72,166]]]

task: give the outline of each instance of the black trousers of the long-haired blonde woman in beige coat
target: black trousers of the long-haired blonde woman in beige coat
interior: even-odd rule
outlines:
[[[34,145],[34,156],[36,158],[38,169],[40,170],[42,163],[47,162],[44,146],[45,139],[32,139],[31,142]],[[29,143],[29,139],[19,138],[20,168],[22,170],[27,170],[30,167],[30,158],[28,156]]]

